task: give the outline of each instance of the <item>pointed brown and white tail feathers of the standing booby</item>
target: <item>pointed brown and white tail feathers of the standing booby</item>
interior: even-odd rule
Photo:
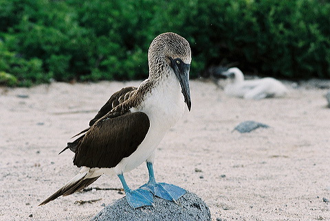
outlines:
[[[61,189],[58,189],[52,196],[48,197],[46,200],[41,202],[39,206],[45,205],[47,202],[50,202],[52,200],[55,200],[59,196],[68,196],[70,194],[73,194],[76,191],[80,191],[90,185],[91,183],[94,183],[100,176],[92,177],[92,178],[85,178],[87,176],[88,172],[82,172],[74,176],[69,182],[67,182]],[[89,174],[88,174],[89,175]]]

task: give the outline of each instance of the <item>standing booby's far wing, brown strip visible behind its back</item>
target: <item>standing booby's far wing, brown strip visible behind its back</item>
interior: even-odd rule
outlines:
[[[136,91],[136,89],[137,88],[134,86],[128,86],[128,87],[124,87],[120,91],[113,93],[113,95],[111,95],[107,103],[105,103],[102,106],[102,108],[98,111],[98,114],[94,117],[94,119],[91,119],[91,121],[89,121],[89,126],[95,124],[95,122],[98,121],[98,119],[109,113],[113,108],[115,108],[119,104],[122,104],[123,102],[128,100],[129,97],[132,95],[131,92]]]

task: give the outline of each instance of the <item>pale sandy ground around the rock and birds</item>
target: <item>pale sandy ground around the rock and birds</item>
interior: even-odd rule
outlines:
[[[87,127],[113,92],[139,84],[0,88],[0,220],[89,220],[102,204],[122,198],[118,191],[87,191],[37,206],[79,170],[72,152],[58,155],[70,137]],[[208,81],[192,80],[190,89],[191,112],[159,144],[158,181],[200,196],[212,220],[330,220],[330,203],[323,201],[330,200],[327,89],[307,82],[287,97],[259,101],[227,97]],[[246,120],[270,128],[232,132]],[[147,178],[144,164],[126,174],[132,188]],[[121,184],[102,176],[91,187]]]

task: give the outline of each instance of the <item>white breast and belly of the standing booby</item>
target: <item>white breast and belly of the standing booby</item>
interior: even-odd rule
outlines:
[[[154,156],[158,144],[166,132],[179,121],[186,108],[177,80],[164,85],[164,87],[158,86],[150,96],[146,97],[143,104],[144,106],[132,111],[146,113],[150,120],[150,128],[137,150],[114,167],[115,174],[129,172]]]

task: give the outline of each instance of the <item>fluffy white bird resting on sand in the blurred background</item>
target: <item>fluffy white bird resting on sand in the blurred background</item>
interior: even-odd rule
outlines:
[[[283,97],[287,88],[275,78],[244,80],[244,75],[237,67],[223,71],[222,75],[230,79],[225,86],[225,94],[245,99],[261,100],[265,97]]]

